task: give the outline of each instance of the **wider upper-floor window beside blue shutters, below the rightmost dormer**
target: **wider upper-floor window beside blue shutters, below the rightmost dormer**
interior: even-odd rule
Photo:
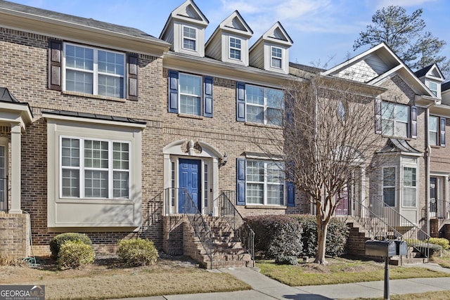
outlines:
[[[246,121],[281,126],[284,92],[261,86],[245,86]]]

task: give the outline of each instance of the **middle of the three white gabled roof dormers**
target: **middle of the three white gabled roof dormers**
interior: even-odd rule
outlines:
[[[253,31],[234,11],[214,30],[205,46],[205,53],[211,58],[226,63],[248,66],[248,41]]]

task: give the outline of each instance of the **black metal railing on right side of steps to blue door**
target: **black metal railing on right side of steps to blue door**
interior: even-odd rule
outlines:
[[[239,214],[231,199],[236,200],[236,191],[221,191],[219,195],[220,216],[229,223],[235,237],[238,237],[245,250],[252,256],[253,266],[255,266],[255,232]]]

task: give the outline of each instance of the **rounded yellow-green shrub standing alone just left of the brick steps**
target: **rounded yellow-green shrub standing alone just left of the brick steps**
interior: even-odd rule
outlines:
[[[153,242],[141,238],[120,240],[117,254],[129,266],[147,266],[155,263],[159,257]]]

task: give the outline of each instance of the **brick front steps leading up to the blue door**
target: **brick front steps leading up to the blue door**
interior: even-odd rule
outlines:
[[[184,254],[191,256],[205,268],[232,268],[253,266],[252,256],[234,236],[233,229],[219,217],[206,216],[205,221],[212,232],[212,262],[202,243],[195,237],[191,224],[184,227]]]

